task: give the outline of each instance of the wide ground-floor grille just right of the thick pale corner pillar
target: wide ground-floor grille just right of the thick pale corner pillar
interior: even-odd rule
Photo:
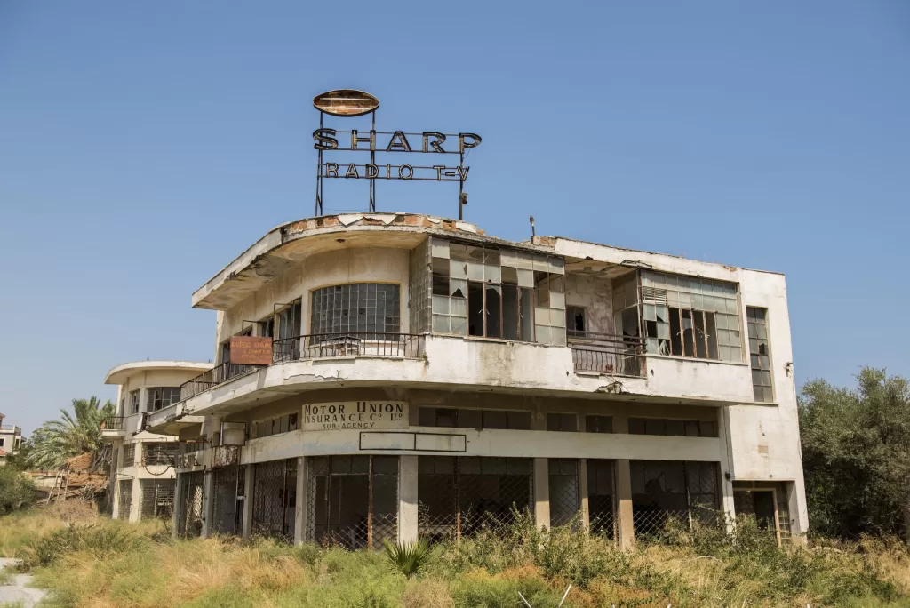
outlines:
[[[418,525],[432,540],[458,539],[514,521],[533,504],[531,459],[420,456]]]

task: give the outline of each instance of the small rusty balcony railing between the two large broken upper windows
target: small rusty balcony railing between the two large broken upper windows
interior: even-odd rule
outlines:
[[[571,329],[566,335],[576,371],[608,376],[644,375],[642,339]]]

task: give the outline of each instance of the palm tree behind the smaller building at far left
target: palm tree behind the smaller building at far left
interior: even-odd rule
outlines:
[[[33,469],[59,469],[74,456],[92,453],[92,468],[109,461],[110,446],[101,441],[101,426],[113,416],[116,406],[110,400],[104,405],[97,397],[74,399],[73,412],[60,410],[60,420],[46,421],[28,440],[27,463]]]

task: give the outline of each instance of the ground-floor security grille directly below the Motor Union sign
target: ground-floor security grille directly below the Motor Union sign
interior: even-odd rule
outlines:
[[[346,549],[398,536],[398,456],[330,456],[308,462],[308,540]]]

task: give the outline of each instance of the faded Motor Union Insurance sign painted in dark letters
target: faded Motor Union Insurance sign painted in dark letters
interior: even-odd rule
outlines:
[[[304,431],[407,429],[407,401],[333,401],[303,406]]]

